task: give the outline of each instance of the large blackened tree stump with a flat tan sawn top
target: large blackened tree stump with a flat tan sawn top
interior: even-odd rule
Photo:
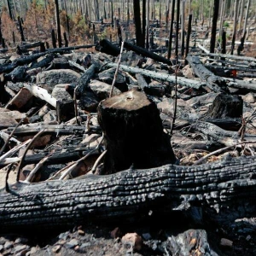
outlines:
[[[98,114],[108,150],[104,173],[176,161],[159,110],[143,92],[130,90],[108,98],[100,103]]]

